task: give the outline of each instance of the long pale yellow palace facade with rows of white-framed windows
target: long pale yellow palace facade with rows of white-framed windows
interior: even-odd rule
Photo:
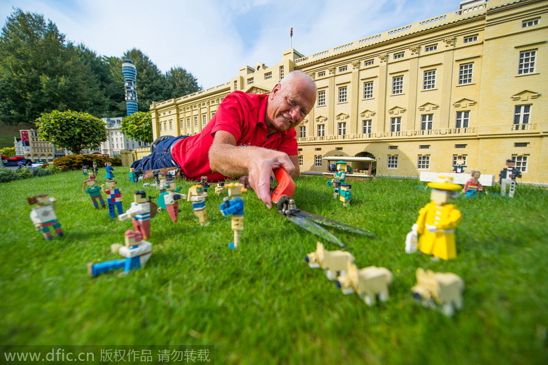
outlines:
[[[464,3],[464,2],[463,2]],[[195,134],[231,91],[267,93],[293,69],[318,87],[297,126],[301,171],[323,156],[368,156],[377,176],[466,171],[548,183],[548,1],[469,1],[460,10],[266,67],[151,105],[154,137]],[[353,168],[362,169],[360,164]]]

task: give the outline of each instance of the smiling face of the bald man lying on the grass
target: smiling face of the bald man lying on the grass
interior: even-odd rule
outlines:
[[[266,106],[269,134],[295,128],[310,113],[316,102],[316,91],[305,80],[293,78],[276,84]]]

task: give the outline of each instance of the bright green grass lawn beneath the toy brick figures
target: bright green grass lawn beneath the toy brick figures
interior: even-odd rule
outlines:
[[[124,207],[142,183],[114,174]],[[99,173],[104,181],[105,173]],[[86,263],[119,259],[129,220],[112,220],[82,193],[81,172],[0,185],[0,343],[212,344],[217,364],[546,364],[548,359],[548,191],[518,186],[514,199],[458,198],[458,258],[407,255],[406,233],[429,202],[417,180],[352,181],[351,207],[332,199],[321,177],[296,179],[299,208],[369,229],[371,239],[333,231],[359,268],[394,275],[390,300],[367,307],[343,295],[304,261],[316,237],[244,194],[245,231],[230,250],[230,218],[210,190],[210,224],[182,202],[179,222],[151,220],[153,255],[126,276],[87,276]],[[186,193],[190,183],[179,182]],[[489,189],[489,188],[488,188]],[[153,196],[158,192],[145,188]],[[490,189],[496,191],[497,187]],[[58,200],[65,237],[34,231],[27,196]],[[329,250],[338,249],[326,244]],[[464,279],[464,309],[453,318],[414,303],[415,270]],[[1,361],[1,360],[0,360]]]

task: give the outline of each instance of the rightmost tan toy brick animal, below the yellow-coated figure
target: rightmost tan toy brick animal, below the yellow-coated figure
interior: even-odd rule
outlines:
[[[424,307],[440,305],[446,316],[462,309],[464,281],[452,272],[432,272],[416,269],[416,285],[411,288],[413,298]]]

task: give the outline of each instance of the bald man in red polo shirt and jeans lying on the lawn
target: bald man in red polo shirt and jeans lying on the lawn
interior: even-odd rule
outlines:
[[[295,127],[316,102],[306,73],[292,71],[268,95],[229,93],[206,128],[194,136],[165,139],[152,154],[135,161],[143,170],[178,166],[186,178],[209,181],[238,177],[272,207],[270,176],[282,167],[299,175]]]

